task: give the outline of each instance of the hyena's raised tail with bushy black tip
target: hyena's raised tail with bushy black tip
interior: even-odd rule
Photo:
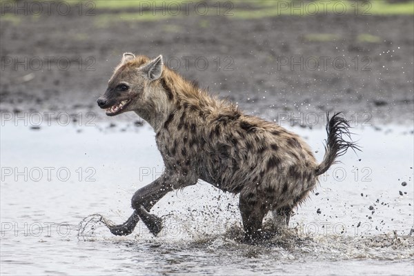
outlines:
[[[334,113],[332,118],[329,119],[329,114],[326,112],[326,133],[328,139],[326,140],[324,160],[319,166],[317,166],[316,175],[322,175],[332,164],[335,163],[337,157],[345,154],[348,148],[360,150],[357,144],[351,140],[351,132],[349,132],[349,123],[346,119],[340,117],[341,112]],[[348,137],[351,141],[345,141],[344,137]]]

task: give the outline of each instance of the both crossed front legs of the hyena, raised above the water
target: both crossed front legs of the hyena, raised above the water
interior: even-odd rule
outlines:
[[[161,177],[155,179],[151,184],[140,188],[132,197],[131,205],[134,213],[121,225],[110,227],[110,232],[114,235],[129,235],[134,230],[139,219],[146,224],[152,235],[157,235],[161,229],[161,219],[149,213],[159,199],[164,197],[171,190],[184,188],[193,185],[197,180],[191,181],[189,177],[183,177],[171,172],[164,172]]]

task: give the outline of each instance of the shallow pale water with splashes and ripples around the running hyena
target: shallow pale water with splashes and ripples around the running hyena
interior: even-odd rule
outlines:
[[[322,160],[324,130],[293,131]],[[237,196],[204,182],[152,209],[164,216],[159,237],[141,223],[128,237],[99,225],[78,237],[88,215],[121,223],[132,213],[132,194],[162,171],[154,133],[124,123],[39,130],[6,124],[1,274],[413,275],[413,128],[354,132],[363,152],[348,152],[321,177],[288,229],[247,245],[239,242]]]

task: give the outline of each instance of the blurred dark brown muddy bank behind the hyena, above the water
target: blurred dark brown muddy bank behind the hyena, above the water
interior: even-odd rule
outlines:
[[[164,55],[188,79],[268,119],[335,110],[371,123],[413,122],[411,15],[145,21],[122,12],[3,16],[1,111],[92,111],[102,119],[96,99],[121,54],[135,52]]]

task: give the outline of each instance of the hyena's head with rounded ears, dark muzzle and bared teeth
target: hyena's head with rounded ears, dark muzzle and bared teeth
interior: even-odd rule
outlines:
[[[157,79],[161,77],[163,61],[160,55],[154,60],[131,53],[124,53],[121,63],[108,81],[108,88],[97,103],[106,115],[115,116],[127,111],[137,113],[157,112]],[[141,114],[139,114],[141,115]],[[144,119],[148,116],[142,116]]]

